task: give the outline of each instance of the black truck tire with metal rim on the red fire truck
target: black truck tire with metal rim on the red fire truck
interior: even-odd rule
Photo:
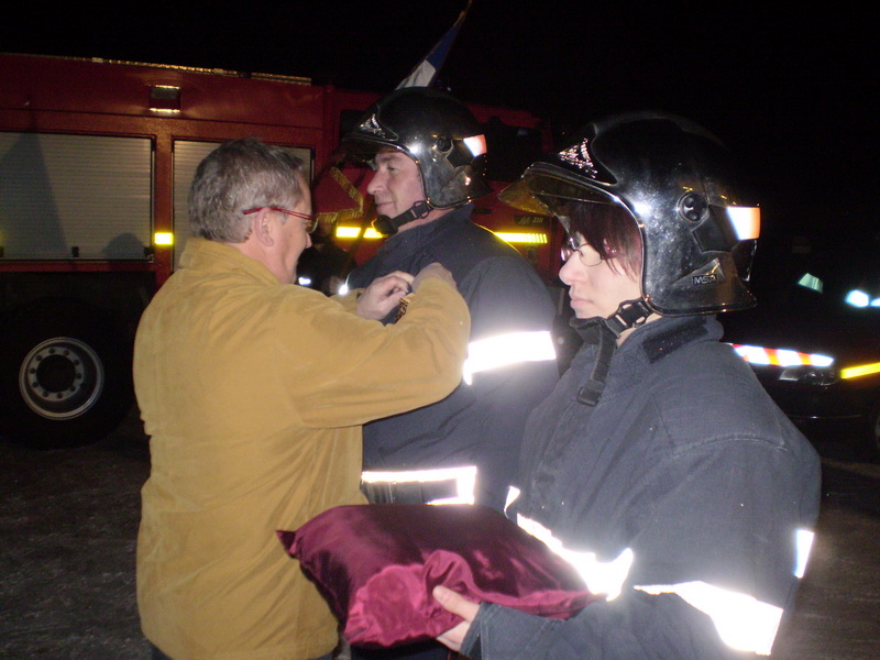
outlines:
[[[106,314],[65,300],[20,310],[0,346],[0,435],[33,449],[89,444],[133,403],[131,339]]]

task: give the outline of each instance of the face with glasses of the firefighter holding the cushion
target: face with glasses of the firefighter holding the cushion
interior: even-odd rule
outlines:
[[[627,274],[620,260],[600,260],[598,253],[579,233],[574,234],[574,241],[579,250],[559,271],[560,279],[569,285],[574,316],[579,319],[608,318],[620,302],[641,296],[638,278]]]

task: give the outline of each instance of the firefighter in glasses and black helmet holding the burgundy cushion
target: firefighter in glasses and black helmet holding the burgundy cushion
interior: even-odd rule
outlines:
[[[604,598],[563,622],[438,587],[464,619],[441,640],[474,660],[768,656],[810,553],[820,461],[719,341],[714,315],[755,302],[759,229],[728,153],[686,120],[618,116],[503,199],[568,231],[560,277],[584,339],[529,418],[508,515]]]

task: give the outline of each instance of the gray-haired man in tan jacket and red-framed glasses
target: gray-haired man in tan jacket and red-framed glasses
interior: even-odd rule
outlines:
[[[199,166],[180,268],[134,355],[152,471],[138,603],[154,658],[307,660],[337,623],[275,530],[364,502],[361,425],[448,395],[470,318],[451,275],[392,273],[344,299],[292,284],[310,244],[300,164],[257,140]],[[415,292],[396,324],[383,318]]]

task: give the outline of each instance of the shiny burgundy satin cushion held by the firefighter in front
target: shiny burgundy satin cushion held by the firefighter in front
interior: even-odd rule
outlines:
[[[438,584],[474,602],[568,618],[591,595],[541,541],[470,505],[340,506],[278,531],[353,646],[432,639],[461,622],[431,596]]]

